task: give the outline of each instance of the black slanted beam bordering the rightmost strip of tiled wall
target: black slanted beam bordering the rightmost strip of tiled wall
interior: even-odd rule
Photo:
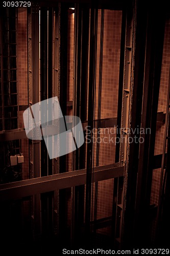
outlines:
[[[161,22],[158,21],[157,15],[160,16]],[[140,241],[141,245],[151,242],[151,233],[149,230],[150,218],[148,216],[148,209],[150,207],[152,188],[152,162],[155,149],[164,26],[165,18],[163,10],[159,8],[159,5],[155,5],[155,9],[149,8],[145,51],[146,57],[144,63],[141,128],[150,128],[150,133],[145,132],[144,134],[140,135],[140,137],[144,140],[143,143],[140,144],[139,148],[135,208],[135,238],[137,241]],[[162,156],[162,167],[163,165],[164,155]],[[143,187],[145,189],[143,189]]]

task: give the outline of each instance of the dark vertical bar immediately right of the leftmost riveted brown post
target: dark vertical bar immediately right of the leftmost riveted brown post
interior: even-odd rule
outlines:
[[[45,100],[52,97],[52,39],[53,39],[53,17],[52,9],[41,8],[40,10],[40,99]],[[41,109],[41,120],[44,114],[48,114],[44,106]],[[41,177],[52,175],[52,161],[48,157],[44,140],[41,141]],[[50,232],[52,229],[52,198],[53,193],[41,194],[41,234]],[[51,206],[51,207],[50,207]],[[49,217],[50,216],[50,217]],[[52,232],[52,230],[51,230]]]

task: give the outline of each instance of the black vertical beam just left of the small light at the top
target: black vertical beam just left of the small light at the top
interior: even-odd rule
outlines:
[[[65,3],[59,4],[59,102],[63,116],[67,110],[67,28],[68,8]],[[66,145],[65,145],[66,146]],[[59,158],[60,172],[66,172],[66,156]],[[66,189],[59,191],[59,236],[64,243],[67,235],[67,201]]]

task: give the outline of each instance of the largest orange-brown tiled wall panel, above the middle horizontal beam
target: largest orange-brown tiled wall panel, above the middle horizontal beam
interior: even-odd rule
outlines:
[[[101,118],[117,116],[122,11],[105,10]]]

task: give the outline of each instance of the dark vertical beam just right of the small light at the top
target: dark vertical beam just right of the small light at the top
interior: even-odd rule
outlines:
[[[75,6],[75,75],[74,75],[74,115],[81,120],[87,118],[87,80],[88,80],[88,38],[89,9],[83,5]],[[85,168],[86,143],[73,153],[73,170]],[[72,188],[72,241],[81,244],[80,234],[84,223],[85,186]]]

